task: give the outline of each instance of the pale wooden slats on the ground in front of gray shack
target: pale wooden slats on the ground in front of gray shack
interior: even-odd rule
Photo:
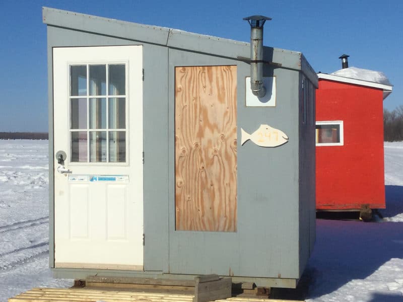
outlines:
[[[193,295],[135,291],[93,290],[84,288],[34,288],[9,298],[9,302],[191,302]],[[238,298],[218,302],[292,302],[291,300]]]

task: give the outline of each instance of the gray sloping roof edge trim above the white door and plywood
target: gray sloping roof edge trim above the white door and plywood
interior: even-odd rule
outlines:
[[[43,23],[48,26],[84,31],[94,34],[113,36],[132,41],[156,44],[186,51],[211,54],[240,60],[238,57],[250,56],[250,43],[220,37],[196,34],[166,27],[144,25],[116,19],[86,15],[53,8],[42,8]],[[298,51],[264,47],[264,59],[275,63],[279,68],[294,70],[306,69],[311,73],[309,63],[301,66],[302,53]],[[304,61],[304,60],[303,60]],[[315,79],[311,75],[312,79]]]

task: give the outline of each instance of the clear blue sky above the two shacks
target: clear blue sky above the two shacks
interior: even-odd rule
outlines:
[[[47,131],[46,26],[42,6],[249,41],[242,18],[273,18],[264,45],[301,51],[315,71],[350,66],[382,71],[394,85],[384,101],[403,105],[403,1],[0,0],[0,131]]]

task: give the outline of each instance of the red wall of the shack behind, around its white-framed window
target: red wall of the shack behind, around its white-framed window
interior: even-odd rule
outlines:
[[[316,121],[344,121],[343,146],[316,146],[316,208],[385,208],[382,90],[319,80]]]

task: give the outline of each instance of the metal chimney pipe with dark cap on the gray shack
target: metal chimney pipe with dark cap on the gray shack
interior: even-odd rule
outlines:
[[[250,16],[243,18],[250,25],[250,89],[261,98],[266,94],[263,86],[263,25],[272,18]]]

